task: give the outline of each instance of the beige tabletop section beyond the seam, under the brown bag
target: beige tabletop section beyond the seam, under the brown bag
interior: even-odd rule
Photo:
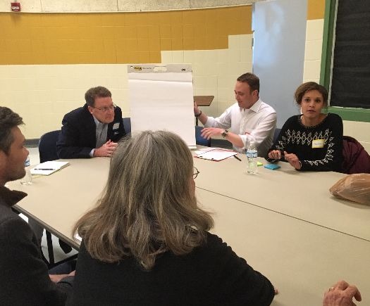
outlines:
[[[194,158],[200,172],[197,187],[370,241],[370,207],[329,192],[345,174],[299,172],[288,162],[279,162],[278,170],[258,167],[258,174],[248,174],[245,155],[238,157],[242,162]]]

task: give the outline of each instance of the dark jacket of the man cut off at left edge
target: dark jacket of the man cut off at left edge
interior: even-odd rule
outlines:
[[[35,234],[11,210],[25,196],[0,186],[0,305],[64,305],[73,276],[50,280]]]

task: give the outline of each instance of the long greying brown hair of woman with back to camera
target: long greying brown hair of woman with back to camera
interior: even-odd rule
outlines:
[[[144,131],[123,139],[97,207],[80,218],[74,232],[97,260],[134,256],[147,270],[167,250],[190,253],[214,224],[197,205],[192,171],[192,154],[176,134]]]

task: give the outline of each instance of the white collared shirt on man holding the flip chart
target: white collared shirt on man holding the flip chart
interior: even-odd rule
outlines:
[[[245,153],[245,148],[253,136],[258,155],[265,157],[273,142],[273,132],[276,128],[276,111],[261,99],[249,109],[240,108],[238,103],[235,103],[227,108],[220,117],[208,117],[204,127],[229,129],[230,132],[238,134],[244,147],[233,147],[235,151],[240,153]]]

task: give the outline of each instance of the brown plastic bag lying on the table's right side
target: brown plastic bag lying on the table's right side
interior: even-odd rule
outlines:
[[[370,174],[350,174],[337,181],[331,189],[333,196],[370,205]]]

